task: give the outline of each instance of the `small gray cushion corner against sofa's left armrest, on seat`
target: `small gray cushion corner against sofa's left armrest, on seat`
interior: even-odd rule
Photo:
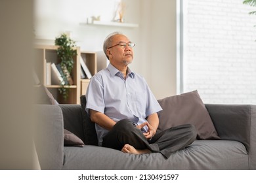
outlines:
[[[83,147],[85,144],[74,133],[64,129],[64,146]]]

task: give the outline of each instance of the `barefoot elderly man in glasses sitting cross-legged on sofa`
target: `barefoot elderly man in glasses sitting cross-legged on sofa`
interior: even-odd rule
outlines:
[[[128,67],[134,46],[122,33],[106,37],[103,50],[110,64],[91,78],[86,110],[95,122],[99,146],[130,154],[160,152],[169,158],[196,139],[196,129],[186,124],[156,133],[162,109],[146,80]]]

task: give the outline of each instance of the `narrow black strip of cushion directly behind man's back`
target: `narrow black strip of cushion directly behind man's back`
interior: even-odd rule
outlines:
[[[85,107],[86,107],[86,97],[81,95],[81,109],[83,113],[83,131],[85,133],[85,144],[98,146],[98,137],[96,135],[95,123],[91,122]]]

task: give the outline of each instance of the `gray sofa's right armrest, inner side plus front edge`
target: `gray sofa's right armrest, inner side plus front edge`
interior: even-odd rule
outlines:
[[[250,169],[256,169],[256,105],[206,104],[221,139],[239,141],[249,155]]]

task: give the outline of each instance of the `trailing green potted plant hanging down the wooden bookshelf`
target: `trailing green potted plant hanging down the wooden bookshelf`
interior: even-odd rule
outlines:
[[[63,99],[66,101],[68,99],[69,87],[72,84],[72,69],[74,66],[74,56],[77,55],[75,50],[75,41],[70,39],[65,33],[62,33],[60,37],[56,37],[55,45],[59,46],[57,49],[57,55],[60,59],[60,67],[62,69],[62,77],[68,82],[60,84],[62,87],[58,89],[60,94],[62,94]]]

